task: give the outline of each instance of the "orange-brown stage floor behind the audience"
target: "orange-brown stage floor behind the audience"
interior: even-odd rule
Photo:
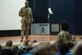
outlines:
[[[76,40],[80,40],[80,37],[82,36],[75,36]],[[57,40],[56,35],[30,35],[28,38],[30,41],[37,40],[37,41],[53,41]],[[12,40],[13,44],[20,44],[20,36],[5,36],[0,37],[0,44],[4,46],[6,44],[6,41]]]

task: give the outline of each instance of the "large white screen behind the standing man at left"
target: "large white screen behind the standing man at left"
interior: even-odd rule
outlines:
[[[0,0],[0,31],[20,30],[18,12],[25,0]]]

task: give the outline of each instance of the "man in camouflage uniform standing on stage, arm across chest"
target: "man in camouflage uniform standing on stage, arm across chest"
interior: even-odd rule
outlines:
[[[21,42],[23,41],[23,37],[28,38],[30,26],[33,21],[32,9],[29,7],[29,2],[25,2],[25,6],[22,7],[19,11],[19,16],[21,19]]]

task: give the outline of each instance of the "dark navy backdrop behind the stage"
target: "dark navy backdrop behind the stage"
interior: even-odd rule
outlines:
[[[82,0],[29,0],[29,2],[35,23],[47,23],[48,8],[51,7],[53,15],[49,23],[59,24],[66,20],[72,34],[82,34]]]

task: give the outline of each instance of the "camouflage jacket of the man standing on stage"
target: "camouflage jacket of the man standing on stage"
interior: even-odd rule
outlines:
[[[31,23],[32,22],[32,9],[30,7],[22,7],[19,11],[19,16],[22,17],[21,23]]]

